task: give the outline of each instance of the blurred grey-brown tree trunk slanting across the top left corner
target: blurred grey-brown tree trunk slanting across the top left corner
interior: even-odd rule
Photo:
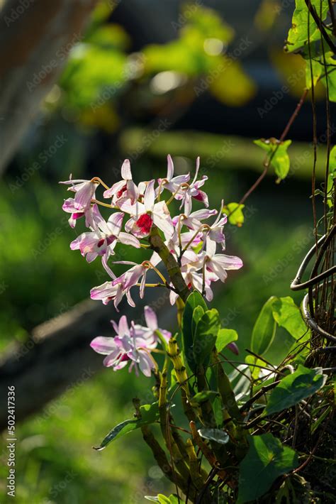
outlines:
[[[98,0],[7,0],[0,11],[0,174]]]

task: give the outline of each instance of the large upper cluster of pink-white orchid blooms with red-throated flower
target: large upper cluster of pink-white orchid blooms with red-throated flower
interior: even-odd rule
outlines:
[[[149,261],[133,263],[131,261],[115,261],[118,264],[130,265],[131,268],[116,277],[111,269],[109,260],[115,255],[117,243],[123,243],[135,248],[150,248],[148,237],[154,228],[162,231],[164,243],[169,252],[174,256],[181,268],[181,275],[189,289],[203,292],[208,301],[213,298],[211,284],[218,280],[224,282],[227,270],[237,270],[242,267],[242,261],[235,256],[223,253],[225,250],[225,236],[223,226],[227,217],[223,214],[223,202],[220,212],[208,209],[208,196],[201,190],[208,177],[203,175],[198,180],[199,158],[196,163],[196,173],[191,181],[190,174],[174,176],[172,158],[168,155],[167,177],[159,180],[140,182],[137,186],[133,182],[130,161],[125,160],[121,168],[122,180],[108,187],[98,177],[91,180],[67,180],[61,182],[69,185],[69,191],[74,192],[74,197],[65,200],[63,210],[71,214],[69,224],[74,228],[80,217],[85,218],[89,231],[80,234],[72,241],[72,250],[79,250],[86,261],[91,263],[101,257],[111,280],[94,287],[91,298],[101,300],[104,304],[110,301],[118,310],[118,305],[124,296],[130,306],[134,307],[130,290],[140,287],[140,297],[144,296],[147,286],[148,270],[155,270],[159,280],[170,289],[170,302],[174,304],[178,292],[172,283],[164,278],[159,271],[160,258],[157,252],[152,253]],[[103,197],[111,201],[107,204],[96,199],[96,189],[99,185],[106,188]],[[164,192],[169,195],[163,199]],[[179,203],[179,214],[172,216],[169,206],[173,200]],[[193,203],[201,202],[205,208],[193,211]],[[107,221],[99,212],[99,204],[113,210]],[[116,212],[114,212],[116,210]],[[125,215],[128,216],[124,225]],[[204,221],[214,217],[211,224]],[[142,243],[147,239],[147,243]],[[218,246],[221,248],[217,253]],[[113,261],[112,261],[113,263]]]

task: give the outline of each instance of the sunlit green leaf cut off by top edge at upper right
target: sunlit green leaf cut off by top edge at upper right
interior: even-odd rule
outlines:
[[[328,11],[327,0],[310,0],[311,4],[315,7],[315,11],[320,17],[320,6],[322,2],[322,21],[325,20]],[[309,16],[309,35],[310,42],[320,40],[320,30],[318,25]],[[286,41],[286,50],[293,53],[308,43],[308,8],[305,0],[296,0],[296,9],[293,13],[292,26],[289,30],[289,35]]]

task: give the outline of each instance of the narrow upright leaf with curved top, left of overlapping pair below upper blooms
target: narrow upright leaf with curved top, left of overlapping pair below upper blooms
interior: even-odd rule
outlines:
[[[192,351],[194,344],[193,316],[194,309],[198,306],[203,308],[204,312],[208,309],[201,294],[197,290],[194,290],[194,292],[191,292],[186,300],[186,306],[184,307],[182,316],[182,351],[184,354],[184,360],[193,372],[196,371],[196,363],[194,361],[194,354]]]

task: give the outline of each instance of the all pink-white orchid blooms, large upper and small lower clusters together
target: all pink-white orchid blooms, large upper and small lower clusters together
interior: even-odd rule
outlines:
[[[179,297],[183,297],[167,268],[167,261],[164,261],[160,253],[161,249],[165,251],[166,260],[167,256],[170,256],[177,265],[186,294],[198,290],[208,301],[213,299],[212,283],[218,280],[224,282],[228,276],[227,270],[242,267],[240,258],[223,253],[223,227],[227,217],[223,214],[223,202],[219,212],[216,209],[208,209],[208,195],[201,189],[208,177],[203,175],[198,179],[199,158],[196,161],[193,180],[189,173],[174,176],[174,164],[170,155],[167,157],[167,165],[165,178],[140,182],[139,185],[133,181],[128,159],[121,167],[122,180],[112,187],[108,187],[99,177],[91,180],[72,180],[70,177],[70,180],[60,182],[69,185],[68,190],[74,192],[74,197],[66,199],[62,207],[65,212],[71,214],[70,226],[74,228],[77,220],[84,217],[89,229],[72,241],[70,248],[79,250],[89,263],[101,257],[103,268],[110,277],[110,280],[91,289],[91,298],[101,300],[105,305],[113,301],[117,311],[124,296],[129,305],[135,307],[130,293],[133,287],[139,287],[141,299],[146,287],[162,286],[169,289],[172,305]],[[99,185],[105,188],[103,198],[108,202],[96,199]],[[166,195],[167,198],[164,199]],[[179,208],[177,215],[172,215],[170,211],[172,206],[174,207],[174,200]],[[203,204],[203,208],[194,210],[195,202]],[[99,206],[111,210],[107,220],[103,219]],[[127,220],[124,223],[125,216]],[[204,222],[211,218],[212,223]],[[153,245],[154,235],[162,243],[161,249]],[[151,249],[152,256],[140,264],[132,261],[113,261],[118,243]],[[169,278],[159,269],[162,262]],[[113,264],[123,264],[130,268],[117,277],[113,273]],[[158,277],[156,283],[147,283],[150,270]],[[134,322],[129,327],[126,317],[121,317],[118,326],[112,322],[116,331],[114,338],[99,336],[92,341],[91,346],[95,351],[106,354],[103,361],[105,366],[118,370],[130,361],[130,370],[135,368],[135,371],[138,371],[140,368],[145,376],[150,376],[156,366],[151,352],[156,349],[158,334],[161,339],[167,339],[170,333],[158,329],[155,313],[150,307],[145,308],[145,319],[147,327]]]

